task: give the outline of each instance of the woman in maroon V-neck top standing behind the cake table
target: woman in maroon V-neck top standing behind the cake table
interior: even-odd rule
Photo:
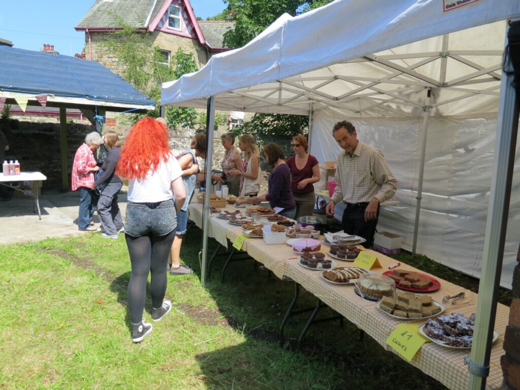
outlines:
[[[320,169],[318,160],[307,153],[307,139],[303,135],[295,136],[292,145],[296,154],[287,160],[287,165],[291,168],[291,190],[296,202],[295,219],[298,219],[313,215],[316,201],[313,183],[320,180]]]

